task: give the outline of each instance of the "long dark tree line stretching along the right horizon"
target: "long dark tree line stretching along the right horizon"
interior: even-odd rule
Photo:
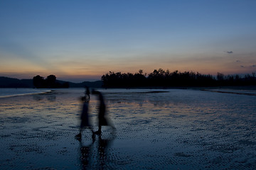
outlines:
[[[210,74],[198,72],[170,72],[169,69],[154,69],[150,74],[144,74],[143,70],[132,73],[109,72],[102,75],[105,88],[132,88],[132,87],[185,87],[185,86],[255,86],[255,73],[245,76],[228,75],[222,73],[213,77]]]

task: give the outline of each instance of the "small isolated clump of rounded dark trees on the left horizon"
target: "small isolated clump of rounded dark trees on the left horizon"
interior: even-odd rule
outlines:
[[[33,77],[33,85],[38,89],[45,89],[45,88],[68,88],[69,83],[64,82],[63,84],[60,81],[57,81],[55,75],[49,75],[46,79],[37,75]]]

